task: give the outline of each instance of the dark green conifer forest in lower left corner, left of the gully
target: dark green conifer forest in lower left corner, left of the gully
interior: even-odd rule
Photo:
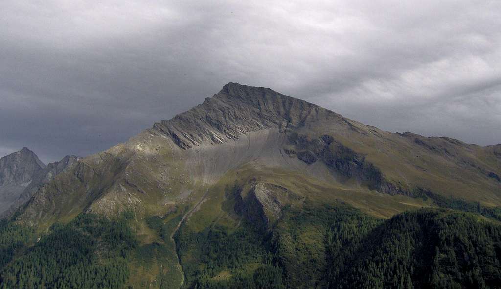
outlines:
[[[33,232],[3,221],[2,288],[122,288],[137,245],[127,222],[126,214],[113,221],[82,214],[28,247]]]

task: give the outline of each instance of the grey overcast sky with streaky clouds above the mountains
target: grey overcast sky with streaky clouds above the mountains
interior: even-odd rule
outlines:
[[[0,156],[103,151],[227,82],[493,145],[501,1],[0,2]]]

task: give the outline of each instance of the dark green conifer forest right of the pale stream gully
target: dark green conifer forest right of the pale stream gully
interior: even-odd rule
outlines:
[[[268,235],[243,226],[177,238],[194,288],[501,286],[501,227],[445,209],[382,221],[345,205],[307,207],[290,210]],[[225,270],[232,277],[219,281]]]

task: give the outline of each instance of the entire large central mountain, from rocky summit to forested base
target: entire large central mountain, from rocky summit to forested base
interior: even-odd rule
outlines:
[[[499,287],[499,176],[499,146],[228,83],[38,190],[2,224],[2,285]]]

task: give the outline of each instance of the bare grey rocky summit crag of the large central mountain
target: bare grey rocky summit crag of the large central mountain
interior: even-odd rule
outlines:
[[[189,149],[204,141],[215,145],[237,139],[251,131],[298,127],[329,115],[341,117],[270,88],[229,82],[202,104],[155,123],[150,132],[169,136],[179,148]]]

